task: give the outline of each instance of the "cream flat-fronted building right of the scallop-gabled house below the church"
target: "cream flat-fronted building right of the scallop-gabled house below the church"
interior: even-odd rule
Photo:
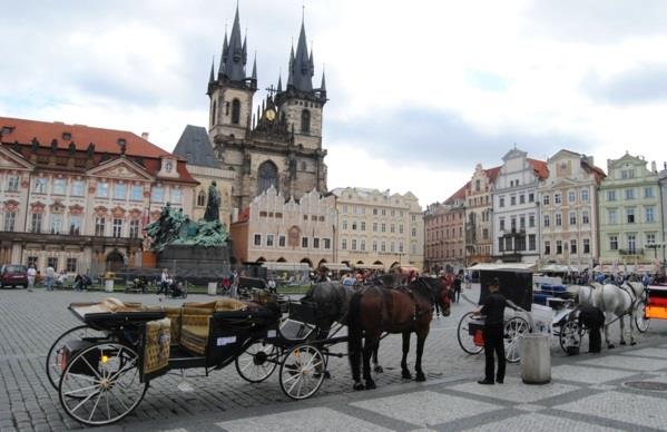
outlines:
[[[423,267],[423,215],[412,193],[336,188],[336,263],[356,268]]]

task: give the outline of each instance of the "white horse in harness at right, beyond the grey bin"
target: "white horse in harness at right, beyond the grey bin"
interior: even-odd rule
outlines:
[[[620,323],[620,344],[625,345],[625,316],[630,317],[630,345],[635,345],[635,312],[644,298],[644,285],[638,282],[625,282],[620,287],[612,284],[592,282],[588,285],[570,285],[568,292],[578,298],[582,306],[595,306],[605,313],[605,342],[608,348],[614,344],[609,342],[609,324],[616,316]]]

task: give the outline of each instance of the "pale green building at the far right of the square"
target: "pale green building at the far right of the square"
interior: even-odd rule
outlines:
[[[659,174],[655,163],[651,169],[646,165],[629,154],[607,161],[598,193],[600,264],[644,264],[635,271],[651,271],[654,245],[665,242]]]

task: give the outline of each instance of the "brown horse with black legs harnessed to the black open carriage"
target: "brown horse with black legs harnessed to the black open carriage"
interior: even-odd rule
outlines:
[[[347,352],[354,390],[375,389],[375,382],[371,377],[371,354],[377,348],[384,332],[403,334],[401,371],[404,379],[412,379],[406,357],[410,351],[410,334],[416,333],[416,381],[426,380],[422,371],[422,354],[433,318],[434,304],[442,308],[444,316],[449,316],[450,292],[443,278],[419,277],[410,285],[399,288],[372,286],[352,296],[347,312]],[[362,353],[365,386],[360,376],[359,363]]]

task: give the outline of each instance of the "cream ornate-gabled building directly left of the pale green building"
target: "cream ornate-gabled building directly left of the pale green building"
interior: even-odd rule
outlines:
[[[598,256],[597,189],[605,173],[592,157],[560,150],[547,160],[549,177],[538,187],[541,258],[592,268]]]

